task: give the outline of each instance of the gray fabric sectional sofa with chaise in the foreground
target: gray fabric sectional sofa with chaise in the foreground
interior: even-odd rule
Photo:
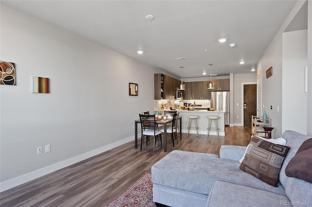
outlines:
[[[239,169],[246,147],[221,146],[220,157],[175,150],[152,166],[153,200],[171,207],[312,206],[312,183],[285,174],[298,148],[311,137],[288,130],[282,138],[290,150],[278,187]]]

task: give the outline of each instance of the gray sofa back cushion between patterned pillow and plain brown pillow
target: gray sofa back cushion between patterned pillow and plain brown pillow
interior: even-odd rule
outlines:
[[[292,159],[292,157],[297,153],[299,147],[301,146],[301,144],[311,138],[309,136],[300,134],[298,132],[294,132],[291,130],[286,130],[283,134],[282,134],[282,138],[286,139],[286,146],[291,147],[291,149],[289,150],[287,156],[284,159],[284,163],[282,165],[281,171],[279,173],[279,182],[284,186],[286,186],[286,182],[287,182],[287,175],[285,174],[285,168],[288,165],[288,163],[290,162],[290,160]]]

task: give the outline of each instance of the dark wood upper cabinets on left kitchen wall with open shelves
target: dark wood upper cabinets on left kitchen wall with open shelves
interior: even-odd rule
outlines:
[[[154,99],[176,98],[176,88],[180,80],[160,73],[154,74]]]

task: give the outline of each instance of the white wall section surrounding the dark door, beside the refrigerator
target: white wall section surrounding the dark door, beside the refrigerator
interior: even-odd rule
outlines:
[[[244,73],[244,74],[234,74],[234,100],[233,100],[233,122],[234,126],[243,126],[244,117],[243,114],[243,104],[242,104],[242,84],[243,83],[257,83],[257,74],[254,73]],[[238,103],[238,105],[237,105]],[[237,119],[238,116],[238,119]]]

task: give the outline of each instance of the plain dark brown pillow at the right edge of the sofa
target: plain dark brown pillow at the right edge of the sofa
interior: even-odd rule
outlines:
[[[285,173],[288,177],[312,183],[312,138],[305,140],[296,155],[288,163]]]

